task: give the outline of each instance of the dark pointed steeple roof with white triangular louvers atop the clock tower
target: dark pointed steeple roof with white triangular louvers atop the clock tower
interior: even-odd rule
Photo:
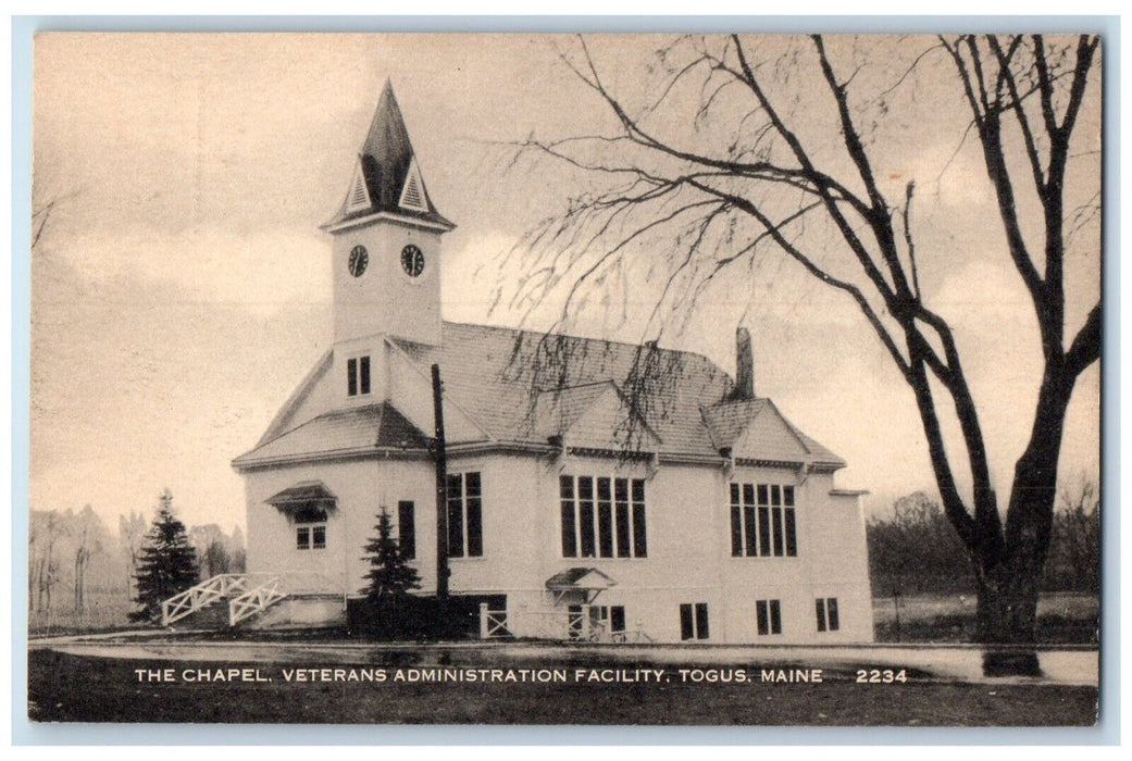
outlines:
[[[336,228],[343,222],[380,213],[420,220],[447,230],[455,226],[432,205],[388,79],[358,154],[346,197],[324,228]]]

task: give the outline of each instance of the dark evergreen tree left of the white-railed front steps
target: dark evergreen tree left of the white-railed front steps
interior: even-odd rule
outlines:
[[[185,524],[173,515],[173,495],[169,489],[162,493],[157,515],[146,533],[135,580],[137,597],[134,601],[142,607],[130,614],[134,621],[156,618],[161,615],[163,600],[198,581],[197,554]]]

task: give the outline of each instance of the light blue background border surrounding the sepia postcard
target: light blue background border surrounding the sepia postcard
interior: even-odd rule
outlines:
[[[27,720],[28,368],[32,37],[123,32],[1091,32],[1103,36],[1105,96],[1101,473],[1101,713],[1091,728],[385,727],[355,725],[51,725]],[[106,745],[823,744],[1034,745],[1120,741],[1120,19],[1117,17],[14,17],[12,40],[12,742]],[[1107,495],[1112,495],[1108,497]]]

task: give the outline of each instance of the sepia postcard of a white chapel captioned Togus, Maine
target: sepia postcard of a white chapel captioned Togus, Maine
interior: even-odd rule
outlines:
[[[34,722],[1097,721],[1094,34],[34,42]]]

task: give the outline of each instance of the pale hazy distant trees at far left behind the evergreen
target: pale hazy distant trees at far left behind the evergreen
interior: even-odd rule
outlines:
[[[33,510],[28,532],[27,607],[33,623],[49,613],[125,612],[149,521],[142,512],[119,515],[112,532],[89,505],[80,511]],[[243,532],[208,523],[189,529],[201,579],[245,570]],[[100,618],[98,621],[104,621]]]

